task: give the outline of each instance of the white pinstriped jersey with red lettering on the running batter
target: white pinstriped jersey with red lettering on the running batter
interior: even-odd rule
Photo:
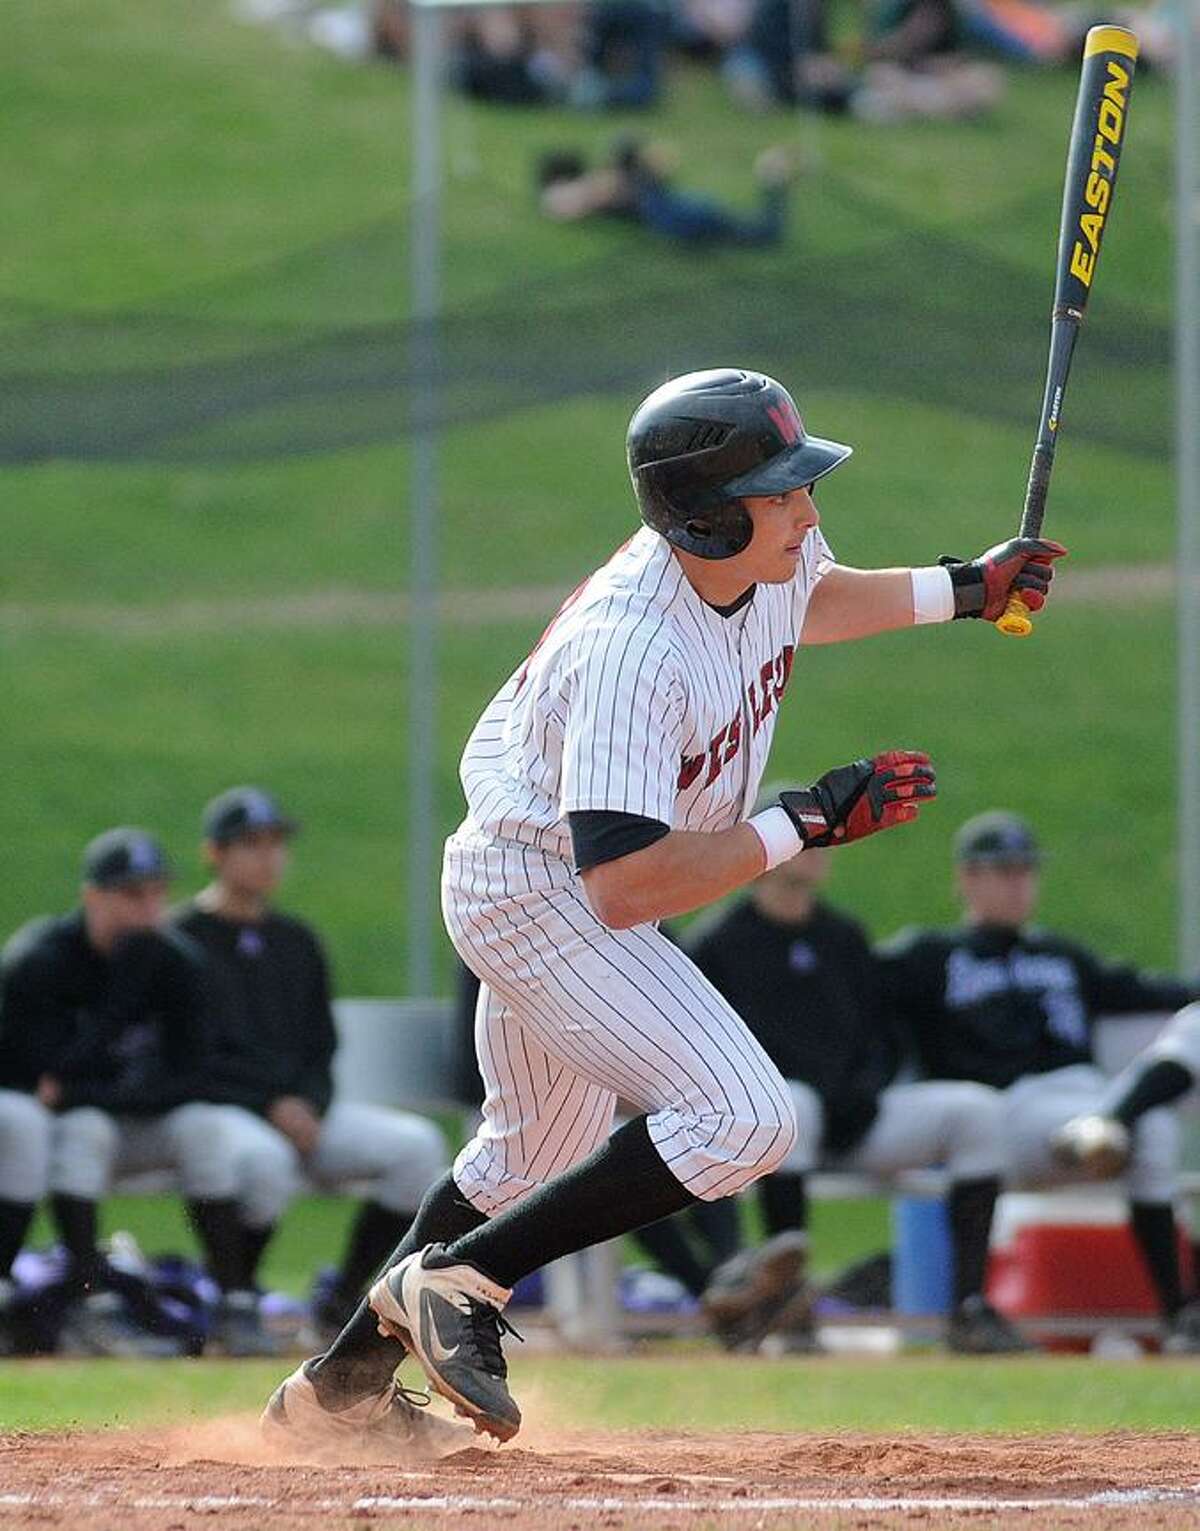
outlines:
[[[576,810],[707,831],[745,818],[808,597],[831,563],[813,530],[793,580],[759,585],[722,617],[670,545],[638,531],[563,603],[476,724],[459,836],[569,862]]]

